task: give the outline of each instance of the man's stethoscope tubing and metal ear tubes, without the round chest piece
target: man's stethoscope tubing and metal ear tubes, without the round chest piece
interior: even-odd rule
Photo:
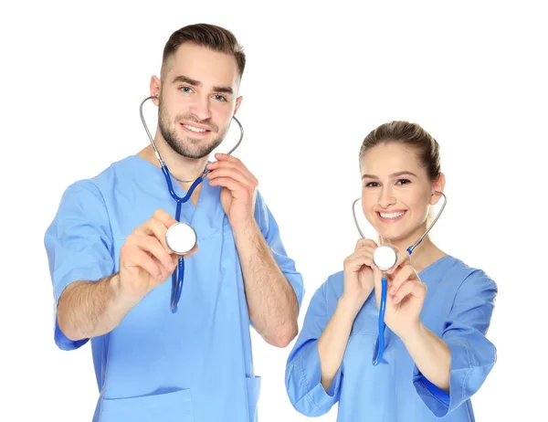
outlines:
[[[205,174],[207,174],[207,169],[204,170],[202,174],[200,174],[194,181],[194,183],[190,186],[188,189],[188,192],[184,197],[181,197],[177,195],[174,191],[174,185],[172,183],[172,174],[170,173],[169,169],[167,168],[167,164],[163,161],[162,155],[160,155],[160,152],[158,151],[158,148],[156,148],[156,144],[153,140],[153,137],[151,135],[151,132],[149,132],[148,127],[146,125],[146,121],[144,121],[144,117],[142,115],[142,105],[146,100],[158,100],[158,95],[152,95],[150,97],[145,98],[142,100],[141,105],[139,107],[139,111],[141,114],[141,121],[142,125],[144,126],[144,130],[146,131],[150,142],[153,145],[154,153],[156,154],[156,158],[158,159],[158,162],[160,163],[162,167],[162,173],[165,177],[165,182],[167,183],[167,188],[169,190],[169,194],[174,198],[176,205],[175,208],[175,220],[178,222],[181,221],[181,208],[185,202],[187,202],[192,194],[195,191],[195,188],[200,185],[204,181]],[[237,125],[239,126],[240,130],[240,137],[237,142],[237,144],[227,153],[230,155],[231,153],[234,153],[236,151],[239,144],[242,142],[242,139],[244,138],[244,128],[242,124],[237,120],[235,116],[232,116],[232,119],[237,122]],[[183,291],[183,280],[184,280],[184,256],[179,256],[179,261],[177,263],[177,268],[174,270],[174,273],[172,274],[172,295],[171,295],[171,311],[172,313],[175,313],[178,309],[179,301],[181,300],[181,292]]]

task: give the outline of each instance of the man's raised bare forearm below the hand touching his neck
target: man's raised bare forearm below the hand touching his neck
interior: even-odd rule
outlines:
[[[298,302],[255,220],[234,230],[249,319],[270,344],[285,347],[297,335]]]

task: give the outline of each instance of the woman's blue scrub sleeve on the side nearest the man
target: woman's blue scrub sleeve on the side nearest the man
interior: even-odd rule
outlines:
[[[322,287],[312,296],[299,338],[286,365],[285,384],[290,403],[307,417],[326,414],[339,401],[342,382],[340,367],[328,391],[321,385],[318,340],[331,319]]]

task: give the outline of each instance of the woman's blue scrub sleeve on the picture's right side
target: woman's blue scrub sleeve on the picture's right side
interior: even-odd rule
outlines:
[[[472,272],[457,291],[441,339],[451,352],[449,393],[437,388],[415,366],[416,392],[437,417],[469,400],[484,383],[497,360],[486,335],[498,293],[496,283],[481,271]]]

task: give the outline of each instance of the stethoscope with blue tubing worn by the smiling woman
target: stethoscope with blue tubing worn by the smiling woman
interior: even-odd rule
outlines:
[[[441,213],[443,212],[443,208],[445,208],[448,198],[443,192],[434,191],[434,194],[442,195],[443,196],[443,205],[441,206],[439,212],[437,213],[436,218],[434,218],[434,221],[430,224],[430,226],[427,228],[427,231],[424,235],[422,235],[413,245],[411,245],[409,248],[407,248],[407,253],[411,255],[413,253],[413,250],[420,245],[420,243],[423,241],[423,239],[427,236],[428,232],[434,227],[434,225],[437,222],[437,219],[439,216],[441,216]],[[353,219],[356,227],[358,228],[358,231],[360,232],[360,235],[362,238],[364,237],[364,233],[362,233],[362,230],[360,230],[360,225],[358,224],[358,220],[356,219],[356,212],[355,212],[355,205],[356,202],[358,202],[360,198],[357,198],[353,204],[352,204],[352,214]],[[377,269],[380,269],[383,271],[383,279],[381,280],[381,303],[379,305],[379,322],[378,322],[378,328],[379,328],[379,337],[378,337],[378,346],[376,348],[376,352],[374,353],[374,360],[373,364],[376,366],[381,362],[383,359],[383,353],[385,353],[385,309],[386,309],[386,293],[388,290],[388,280],[386,279],[386,271],[389,269],[392,269],[395,266],[395,263],[397,262],[397,253],[395,252],[395,248],[392,248],[388,245],[381,245],[380,247],[374,249],[373,253],[373,263]]]

